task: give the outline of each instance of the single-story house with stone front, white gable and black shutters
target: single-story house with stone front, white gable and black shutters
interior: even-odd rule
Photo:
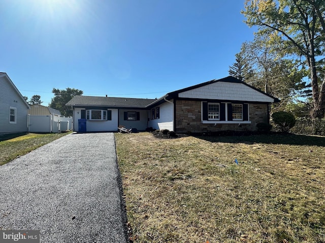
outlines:
[[[269,123],[270,104],[278,101],[228,76],[159,99],[75,96],[66,105],[73,109],[75,131],[80,128],[79,119],[84,119],[89,132],[117,131],[118,126],[124,126],[205,133],[255,131],[258,123]]]

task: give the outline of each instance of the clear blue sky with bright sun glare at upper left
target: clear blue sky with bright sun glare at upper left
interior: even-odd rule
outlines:
[[[159,98],[228,76],[244,0],[0,0],[0,71],[22,95]]]

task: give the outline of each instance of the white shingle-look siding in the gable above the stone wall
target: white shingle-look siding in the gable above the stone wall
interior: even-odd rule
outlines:
[[[179,93],[180,98],[274,102],[274,99],[244,84],[216,82]]]

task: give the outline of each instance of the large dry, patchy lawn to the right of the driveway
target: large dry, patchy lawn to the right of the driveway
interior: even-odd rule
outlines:
[[[115,138],[134,242],[325,242],[325,138]]]

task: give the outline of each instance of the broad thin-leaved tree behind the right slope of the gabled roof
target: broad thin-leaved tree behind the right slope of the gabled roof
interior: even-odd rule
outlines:
[[[239,53],[250,70],[245,83],[279,98],[281,102],[273,106],[276,109],[284,109],[286,104],[305,95],[304,92],[308,94],[302,79],[305,70],[299,69],[292,59],[284,58],[282,49],[280,39],[259,33],[252,42],[243,43]]]

